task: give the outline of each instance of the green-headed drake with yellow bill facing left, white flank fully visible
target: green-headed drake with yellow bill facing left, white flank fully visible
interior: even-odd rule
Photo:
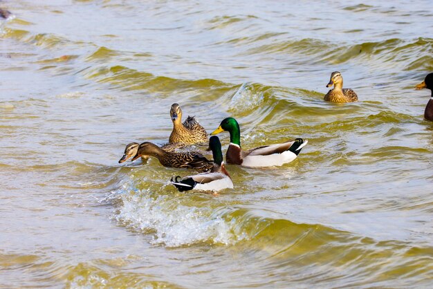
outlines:
[[[211,136],[221,133],[221,131],[228,131],[230,133],[230,145],[225,154],[225,159],[230,164],[243,165],[245,167],[284,165],[287,162],[295,160],[302,147],[308,142],[308,140],[297,138],[296,140],[282,144],[265,145],[243,151],[241,149],[241,130],[234,118],[225,118],[218,129],[211,133]]]

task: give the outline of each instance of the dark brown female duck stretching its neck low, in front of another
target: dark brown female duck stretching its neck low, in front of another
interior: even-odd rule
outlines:
[[[164,167],[195,169],[199,172],[210,171],[213,167],[213,162],[197,151],[174,153],[172,151],[165,151],[151,142],[143,142],[140,144],[136,156],[134,156],[132,160],[136,160],[140,158],[140,156],[154,156],[158,158],[160,164]]]

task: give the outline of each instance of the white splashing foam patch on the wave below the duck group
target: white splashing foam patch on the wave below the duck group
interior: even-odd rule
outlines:
[[[244,238],[245,234],[234,232],[230,223],[209,207],[181,205],[175,194],[155,195],[149,189],[137,192],[132,187],[117,194],[122,202],[118,202],[114,218],[135,230],[154,234],[151,243],[167,247],[205,242],[229,245]]]

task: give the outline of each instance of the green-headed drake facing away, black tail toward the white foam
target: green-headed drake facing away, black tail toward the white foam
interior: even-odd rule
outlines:
[[[232,178],[230,178],[228,171],[225,169],[221,142],[219,142],[217,136],[210,138],[209,147],[214,156],[212,170],[209,173],[186,176],[185,178],[181,178],[180,176],[172,178],[171,183],[179,192],[189,191],[190,189],[217,192],[221,189],[233,188]]]

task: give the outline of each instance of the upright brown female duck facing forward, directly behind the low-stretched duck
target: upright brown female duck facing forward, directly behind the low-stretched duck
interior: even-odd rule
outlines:
[[[173,131],[169,137],[169,142],[184,142],[186,144],[195,144],[197,142],[208,142],[208,133],[196,121],[194,116],[188,116],[187,120],[182,123],[182,109],[179,104],[172,104],[170,117],[173,121]]]

